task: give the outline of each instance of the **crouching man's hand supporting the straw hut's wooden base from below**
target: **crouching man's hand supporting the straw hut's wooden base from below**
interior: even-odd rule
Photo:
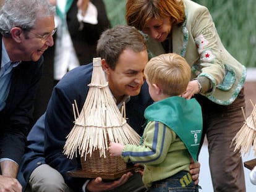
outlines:
[[[122,175],[121,178],[119,178],[118,180],[114,180],[113,182],[103,182],[101,177],[97,177],[97,178],[95,178],[94,180],[91,180],[88,183],[86,189],[88,191],[92,191],[92,192],[101,192],[101,191],[113,190],[117,186],[121,186],[124,183],[126,183],[127,180],[131,176],[132,176],[132,173],[128,172],[128,173]]]

